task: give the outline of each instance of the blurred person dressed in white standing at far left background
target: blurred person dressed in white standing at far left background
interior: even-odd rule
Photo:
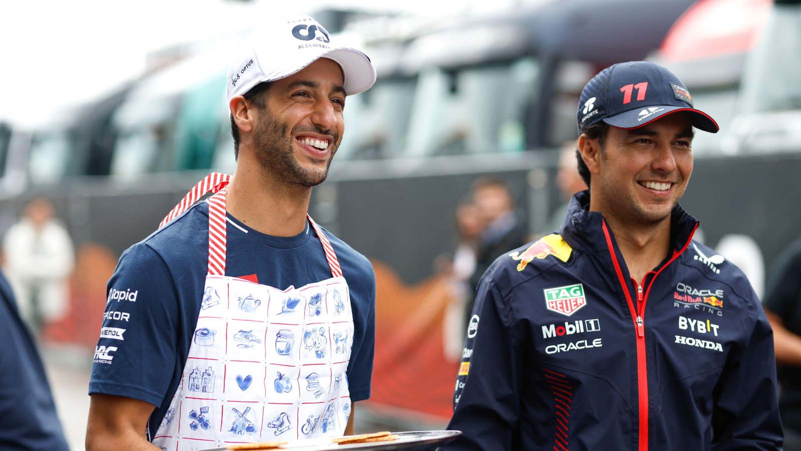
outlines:
[[[49,200],[28,202],[20,221],[6,232],[3,253],[19,313],[38,335],[44,324],[66,315],[67,276],[74,265],[70,234],[54,217]]]

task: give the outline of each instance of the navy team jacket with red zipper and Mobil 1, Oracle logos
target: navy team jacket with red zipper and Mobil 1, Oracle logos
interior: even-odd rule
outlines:
[[[630,278],[589,192],[561,234],[478,288],[442,449],[781,449],[770,324],[745,275],[671,215],[670,255]]]

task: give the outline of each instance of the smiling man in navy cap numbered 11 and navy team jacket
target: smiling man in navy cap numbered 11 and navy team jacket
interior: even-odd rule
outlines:
[[[586,84],[578,128],[590,189],[482,278],[443,449],[781,449],[770,324],[678,205],[718,125],[631,62]]]

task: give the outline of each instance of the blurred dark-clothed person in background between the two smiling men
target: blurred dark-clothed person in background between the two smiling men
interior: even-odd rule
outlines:
[[[473,205],[476,205],[481,235],[476,247],[476,267],[470,276],[470,300],[465,306],[469,323],[476,287],[481,276],[499,255],[526,242],[525,225],[514,211],[512,193],[497,177],[480,177],[473,182]]]

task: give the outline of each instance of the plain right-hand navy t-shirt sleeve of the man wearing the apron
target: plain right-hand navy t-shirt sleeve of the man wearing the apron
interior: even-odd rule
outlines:
[[[364,296],[360,302],[352,302],[353,308],[353,346],[348,363],[348,391],[353,402],[370,397],[372,382],[372,360],[376,348],[376,275],[369,266],[368,277],[361,290],[352,295]]]

